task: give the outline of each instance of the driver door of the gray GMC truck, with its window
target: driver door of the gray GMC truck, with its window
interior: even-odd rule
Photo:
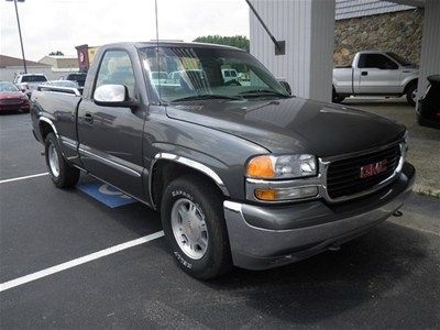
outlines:
[[[79,154],[85,169],[96,177],[142,198],[142,138],[144,110],[105,107],[94,101],[96,88],[124,85],[129,97],[138,98],[132,59],[124,50],[108,50],[102,56],[90,96],[78,108]]]

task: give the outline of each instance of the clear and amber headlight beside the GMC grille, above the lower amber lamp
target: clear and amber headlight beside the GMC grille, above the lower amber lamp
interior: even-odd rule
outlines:
[[[262,155],[251,158],[246,177],[258,179],[299,178],[317,175],[317,161],[312,155]]]

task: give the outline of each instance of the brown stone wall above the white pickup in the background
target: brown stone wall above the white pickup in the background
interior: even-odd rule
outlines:
[[[424,9],[336,21],[334,64],[350,65],[360,51],[391,51],[419,64]]]

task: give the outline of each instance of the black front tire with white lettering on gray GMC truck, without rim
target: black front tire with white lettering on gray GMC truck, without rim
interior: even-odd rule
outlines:
[[[193,201],[205,217],[208,243],[205,255],[195,260],[178,245],[172,228],[173,206],[183,199]],[[229,272],[232,267],[222,198],[216,188],[204,178],[188,175],[172,182],[164,190],[161,219],[165,237],[173,255],[182,270],[199,279],[211,279]]]

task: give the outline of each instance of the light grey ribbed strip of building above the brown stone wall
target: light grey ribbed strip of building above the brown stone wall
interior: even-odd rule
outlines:
[[[383,0],[336,0],[336,2],[337,21],[413,9],[409,6]]]

